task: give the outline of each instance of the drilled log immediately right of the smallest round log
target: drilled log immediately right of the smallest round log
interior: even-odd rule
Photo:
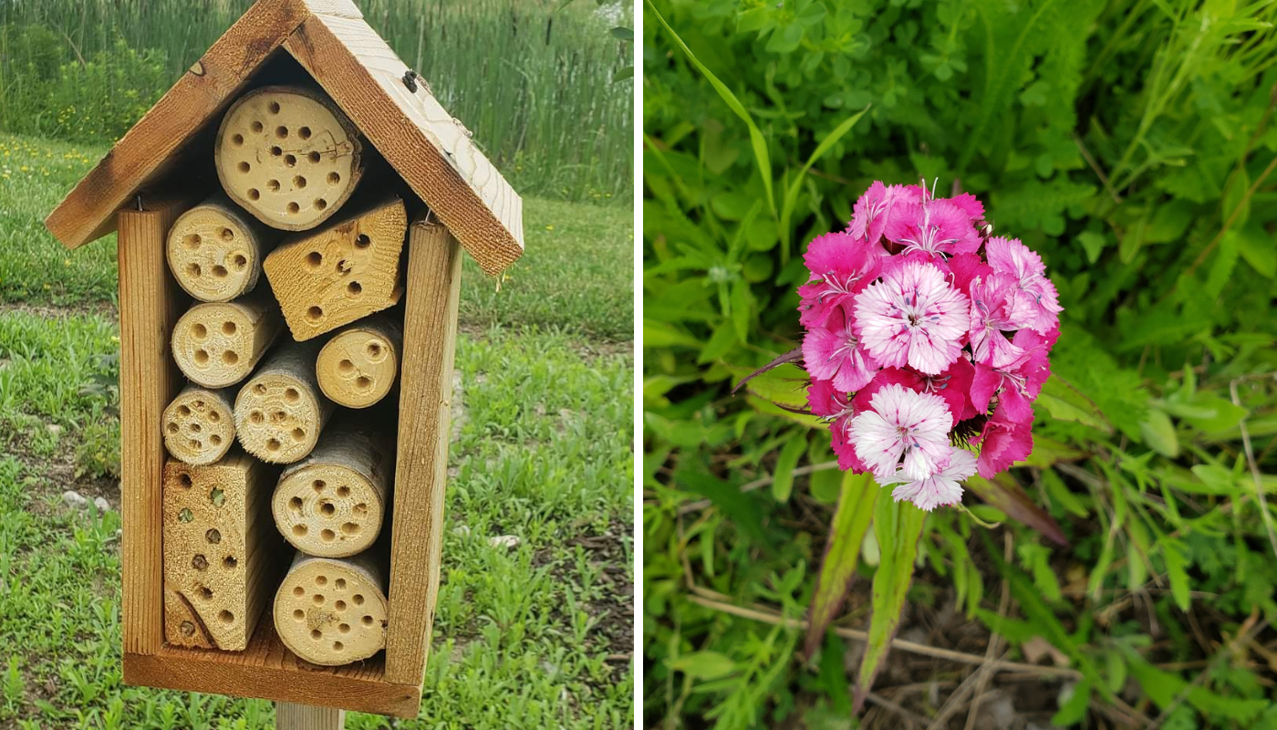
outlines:
[[[245,451],[272,464],[291,464],[315,447],[333,408],[315,382],[318,352],[317,344],[286,343],[240,389],[235,435]]]

